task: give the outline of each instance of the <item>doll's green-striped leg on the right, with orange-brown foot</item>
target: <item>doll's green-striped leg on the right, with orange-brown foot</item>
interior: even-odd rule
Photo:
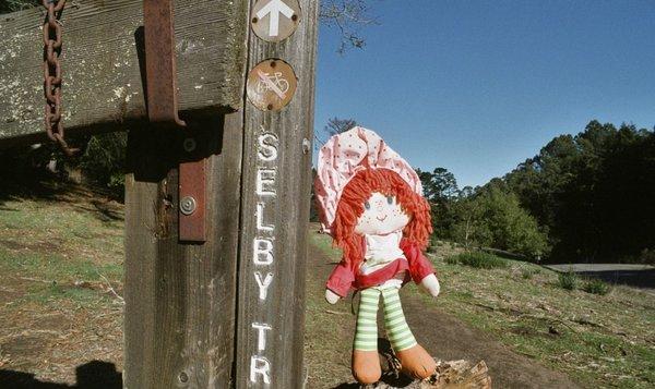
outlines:
[[[384,326],[391,347],[395,351],[403,372],[412,377],[424,379],[437,368],[434,360],[416,342],[401,305],[397,288],[382,290],[384,305]]]

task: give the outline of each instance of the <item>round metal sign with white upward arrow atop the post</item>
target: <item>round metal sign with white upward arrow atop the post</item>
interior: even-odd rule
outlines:
[[[294,34],[300,23],[298,0],[259,0],[252,9],[250,25],[266,41],[281,41]]]

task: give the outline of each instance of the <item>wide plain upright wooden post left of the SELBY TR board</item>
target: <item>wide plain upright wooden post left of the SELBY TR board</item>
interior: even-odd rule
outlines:
[[[207,147],[207,242],[178,241],[187,133],[129,133],[124,388],[225,388],[234,363],[242,112],[189,122]]]

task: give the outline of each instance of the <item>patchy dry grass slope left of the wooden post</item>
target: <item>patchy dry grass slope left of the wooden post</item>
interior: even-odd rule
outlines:
[[[81,189],[0,202],[0,368],[74,382],[92,360],[120,366],[122,226]]]

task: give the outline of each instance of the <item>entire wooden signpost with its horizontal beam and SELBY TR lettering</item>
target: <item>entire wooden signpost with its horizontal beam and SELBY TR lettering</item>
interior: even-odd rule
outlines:
[[[61,17],[68,136],[129,131],[123,386],[298,388],[318,3],[174,5],[183,129],[147,121],[142,0]],[[43,19],[0,15],[0,148],[45,141]],[[179,167],[201,162],[196,205]],[[202,239],[182,241],[180,209],[196,206]]]

